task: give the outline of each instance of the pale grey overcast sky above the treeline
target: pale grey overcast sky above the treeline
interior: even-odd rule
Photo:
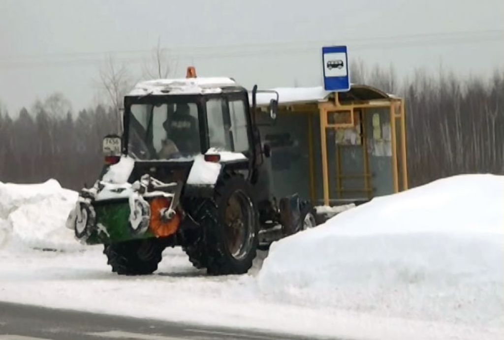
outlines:
[[[504,67],[503,0],[0,0],[0,102],[11,112],[64,93],[100,99],[112,54],[135,79],[160,39],[174,76],[229,76],[246,87],[321,84],[323,45],[401,77],[442,67],[487,76]]]

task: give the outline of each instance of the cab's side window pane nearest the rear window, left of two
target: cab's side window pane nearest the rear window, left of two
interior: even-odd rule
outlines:
[[[207,121],[210,147],[232,151],[229,112],[223,99],[207,101]]]

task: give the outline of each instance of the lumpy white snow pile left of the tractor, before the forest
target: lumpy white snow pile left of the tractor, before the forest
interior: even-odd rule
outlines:
[[[75,250],[81,246],[65,221],[77,192],[50,179],[41,184],[0,183],[0,247],[8,239],[37,249]]]

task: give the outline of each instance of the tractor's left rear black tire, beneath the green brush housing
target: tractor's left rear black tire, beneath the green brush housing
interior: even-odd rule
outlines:
[[[157,239],[150,238],[106,244],[103,253],[114,273],[148,275],[156,271],[163,249]]]

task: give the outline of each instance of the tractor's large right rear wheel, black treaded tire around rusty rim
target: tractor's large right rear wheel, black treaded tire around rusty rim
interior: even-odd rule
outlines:
[[[211,275],[245,274],[256,257],[259,240],[259,217],[250,184],[241,176],[224,174],[214,197],[195,199],[191,205],[191,215],[201,226],[197,239],[184,247],[193,265],[207,268]],[[231,212],[238,207],[241,217],[230,224]],[[231,235],[235,232],[238,234]]]

